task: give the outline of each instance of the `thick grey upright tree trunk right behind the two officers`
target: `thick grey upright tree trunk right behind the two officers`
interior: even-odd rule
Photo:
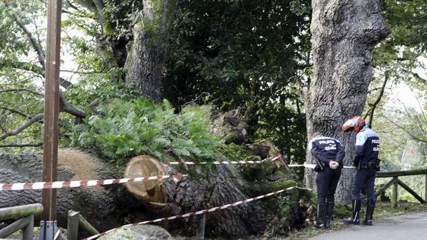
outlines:
[[[307,106],[307,132],[319,131],[345,145],[344,164],[354,159],[355,134],[340,126],[361,114],[371,82],[372,48],[390,30],[385,26],[381,0],[312,0],[312,56],[314,71]],[[313,158],[308,152],[307,162]],[[351,200],[353,170],[344,170],[336,194]],[[306,184],[313,187],[312,170]]]

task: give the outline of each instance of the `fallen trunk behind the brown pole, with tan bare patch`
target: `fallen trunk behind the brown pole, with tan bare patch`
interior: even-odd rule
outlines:
[[[0,154],[0,182],[41,181],[42,156],[33,153]],[[96,154],[78,149],[59,149],[58,180],[90,180],[119,176]],[[0,208],[41,202],[41,190],[0,192]],[[123,185],[71,188],[58,190],[57,217],[59,226],[66,226],[67,212],[80,211],[82,216],[99,230],[123,224],[131,210],[141,208],[142,202],[133,197]],[[37,222],[37,221],[36,221]]]

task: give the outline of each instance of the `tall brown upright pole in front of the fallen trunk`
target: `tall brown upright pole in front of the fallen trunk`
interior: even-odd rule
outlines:
[[[56,181],[57,176],[61,7],[62,0],[48,0],[43,151],[43,181],[47,182]],[[50,233],[55,232],[56,226],[56,190],[43,190],[42,204],[45,229],[41,229],[44,232],[41,237],[52,240]]]

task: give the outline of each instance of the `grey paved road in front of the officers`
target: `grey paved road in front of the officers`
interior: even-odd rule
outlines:
[[[390,217],[373,226],[351,226],[311,240],[427,240],[427,212]]]

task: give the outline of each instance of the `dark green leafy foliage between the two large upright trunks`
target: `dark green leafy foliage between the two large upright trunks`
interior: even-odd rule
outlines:
[[[273,139],[303,162],[302,78],[310,51],[307,0],[188,1],[177,11],[164,96],[221,111],[246,109],[251,140]],[[282,34],[286,32],[285,34]],[[231,94],[230,94],[231,93]]]

